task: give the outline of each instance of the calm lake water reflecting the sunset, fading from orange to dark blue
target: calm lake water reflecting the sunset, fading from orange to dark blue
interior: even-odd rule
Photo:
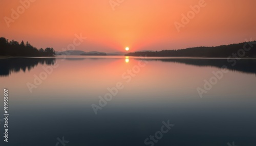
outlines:
[[[0,120],[0,143],[256,145],[256,60],[232,63],[123,56],[1,59],[0,93],[8,89],[10,115],[9,142]],[[205,91],[202,98],[198,88]],[[104,95],[108,101],[100,107]],[[0,104],[4,113],[3,98]],[[93,104],[100,107],[97,114]],[[63,136],[66,143],[59,142]]]

